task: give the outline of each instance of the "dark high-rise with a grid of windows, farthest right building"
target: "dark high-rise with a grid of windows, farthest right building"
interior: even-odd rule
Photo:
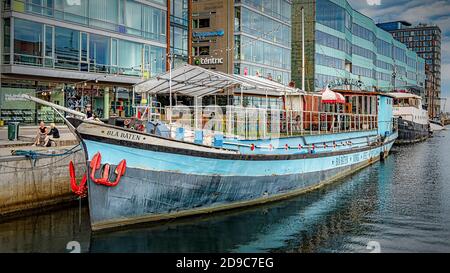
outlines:
[[[441,112],[441,29],[427,24],[412,26],[404,21],[386,22],[378,26],[425,59],[427,88],[424,105],[428,107],[431,118],[438,116]]]

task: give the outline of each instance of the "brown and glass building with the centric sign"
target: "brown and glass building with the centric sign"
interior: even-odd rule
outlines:
[[[194,64],[229,74],[291,80],[291,1],[194,1]]]

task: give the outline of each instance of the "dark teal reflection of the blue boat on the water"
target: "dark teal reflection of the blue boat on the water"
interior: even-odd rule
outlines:
[[[370,175],[377,175],[377,167],[293,200],[163,225],[94,234],[91,251],[317,251],[330,238],[357,228],[362,217],[373,209],[377,184],[369,181]],[[371,198],[360,202],[362,195]]]

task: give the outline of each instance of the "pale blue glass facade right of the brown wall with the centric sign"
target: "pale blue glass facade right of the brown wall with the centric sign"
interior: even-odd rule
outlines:
[[[241,0],[235,8],[234,73],[291,80],[291,2]]]

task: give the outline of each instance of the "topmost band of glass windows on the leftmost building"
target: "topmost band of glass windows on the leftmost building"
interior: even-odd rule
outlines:
[[[134,0],[14,0],[13,11],[51,17],[145,39],[166,42],[166,1]]]

